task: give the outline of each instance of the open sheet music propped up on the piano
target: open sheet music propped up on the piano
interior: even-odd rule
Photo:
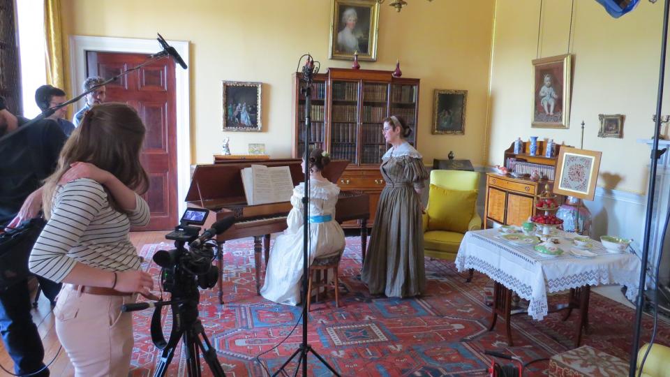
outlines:
[[[240,170],[248,205],[287,202],[293,193],[288,166],[251,165]]]

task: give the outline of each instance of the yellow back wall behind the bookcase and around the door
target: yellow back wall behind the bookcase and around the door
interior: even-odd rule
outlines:
[[[70,35],[191,41],[193,163],[221,150],[221,80],[257,81],[262,88],[262,133],[226,133],[233,154],[262,142],[273,157],[291,151],[291,73],[310,52],[329,60],[330,0],[62,0],[64,45]],[[392,70],[421,79],[419,151],[424,161],[484,161],[493,0],[411,1],[401,13],[380,6],[378,61],[364,69]],[[68,54],[68,52],[66,52]],[[322,69],[325,71],[325,69]],[[431,135],[433,89],[467,89],[466,135]]]

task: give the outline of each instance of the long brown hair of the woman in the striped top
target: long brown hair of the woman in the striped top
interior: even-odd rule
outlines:
[[[88,110],[61,150],[56,172],[45,179],[42,195],[47,219],[51,215],[59,180],[75,162],[96,165],[117,177],[128,188],[140,194],[146,193],[149,177],[140,164],[145,133],[142,119],[135,109],[124,103],[103,103]],[[107,201],[118,212],[124,212],[109,191]]]

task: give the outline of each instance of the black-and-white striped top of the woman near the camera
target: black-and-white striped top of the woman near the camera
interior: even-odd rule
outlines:
[[[60,282],[75,262],[107,271],[140,269],[142,258],[131,244],[132,226],[149,223],[149,206],[135,194],[135,210],[119,213],[93,179],[76,179],[56,191],[51,219],[30,254],[31,272]]]

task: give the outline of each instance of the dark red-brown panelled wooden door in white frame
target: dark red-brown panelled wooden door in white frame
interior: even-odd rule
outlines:
[[[106,80],[142,64],[147,58],[146,54],[89,51],[87,75]],[[147,126],[141,158],[149,175],[149,191],[144,194],[144,200],[151,209],[151,221],[133,230],[174,228],[178,222],[174,61],[155,61],[107,84],[106,101],[133,106]]]

